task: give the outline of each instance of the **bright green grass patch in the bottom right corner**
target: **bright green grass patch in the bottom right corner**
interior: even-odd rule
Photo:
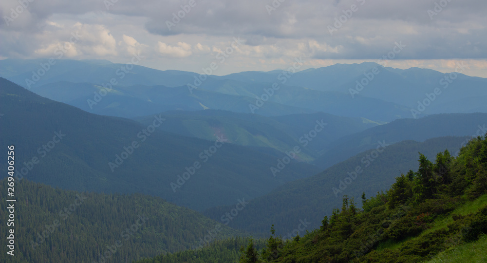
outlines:
[[[468,263],[487,262],[487,235],[482,235],[479,240],[457,246],[436,255],[428,263]]]

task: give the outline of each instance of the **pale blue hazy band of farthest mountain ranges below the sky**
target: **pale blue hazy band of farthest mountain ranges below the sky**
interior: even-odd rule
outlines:
[[[337,64],[295,74],[271,71],[206,77],[137,65],[127,70],[124,64],[108,61],[61,60],[35,84],[27,85],[26,79],[32,79],[39,63],[47,63],[47,60],[4,59],[0,61],[0,73],[45,97],[88,112],[121,117],[209,108],[264,116],[322,111],[389,122],[432,113],[487,112],[482,100],[487,96],[484,78],[460,73],[450,76],[419,68],[399,70],[371,62]],[[117,85],[110,89],[111,96],[90,106],[87,100],[94,101],[94,92],[102,90],[101,85],[109,84],[112,78]],[[366,85],[357,89],[357,81]],[[187,84],[198,83],[201,84],[193,86],[196,89],[187,88]],[[273,83],[279,85],[277,90],[272,89]],[[437,94],[435,88],[439,89]],[[256,96],[266,101],[259,101]],[[257,108],[252,110],[250,104]]]

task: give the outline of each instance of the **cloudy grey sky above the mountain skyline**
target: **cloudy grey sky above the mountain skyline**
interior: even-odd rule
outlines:
[[[216,62],[225,75],[389,55],[395,68],[463,62],[487,77],[486,14],[486,0],[2,0],[0,59],[140,54],[151,68],[203,73]]]

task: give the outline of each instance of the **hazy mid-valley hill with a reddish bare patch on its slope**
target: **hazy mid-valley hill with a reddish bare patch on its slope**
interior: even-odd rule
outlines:
[[[225,138],[235,144],[272,148],[282,154],[300,146],[302,151],[296,159],[305,162],[314,160],[321,150],[338,138],[378,125],[362,118],[327,113],[264,117],[258,114],[205,110],[160,114],[167,119],[167,125],[161,127],[163,131],[206,140],[211,140],[215,134],[224,134]],[[148,125],[153,116],[134,119]],[[319,123],[324,127],[317,126]],[[313,137],[310,137],[310,132]]]

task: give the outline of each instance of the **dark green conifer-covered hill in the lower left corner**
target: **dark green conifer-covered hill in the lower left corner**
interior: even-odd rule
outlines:
[[[3,179],[0,195],[7,196],[6,192],[7,180]],[[16,256],[2,260],[7,250],[2,245],[0,262],[103,262],[100,257],[107,249],[115,251],[108,253],[111,262],[130,262],[198,246],[216,225],[221,230],[212,241],[242,235],[159,197],[79,193],[26,179],[16,182],[15,194]],[[2,222],[9,216],[7,205],[0,202]],[[1,233],[6,235],[7,229],[11,227],[6,223],[0,225]],[[117,241],[121,244],[115,250]],[[238,248],[234,253],[238,258],[237,252]]]

